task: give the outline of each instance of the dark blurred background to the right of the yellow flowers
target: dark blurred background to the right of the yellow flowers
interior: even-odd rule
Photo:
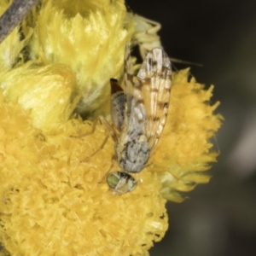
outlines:
[[[215,85],[212,102],[221,102],[216,113],[225,118],[211,182],[182,204],[167,204],[170,228],[150,255],[256,255],[256,1],[126,3],[161,23],[168,55],[203,64],[191,66],[191,73]]]

